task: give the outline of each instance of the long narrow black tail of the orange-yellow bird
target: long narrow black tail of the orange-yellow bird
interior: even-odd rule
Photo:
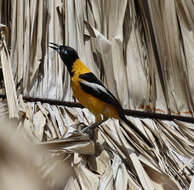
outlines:
[[[127,124],[129,125],[143,140],[144,142],[150,147],[152,148],[153,145],[150,143],[150,141],[145,137],[145,135],[133,124],[131,123],[126,117],[125,115],[121,114],[119,115],[120,118]]]

